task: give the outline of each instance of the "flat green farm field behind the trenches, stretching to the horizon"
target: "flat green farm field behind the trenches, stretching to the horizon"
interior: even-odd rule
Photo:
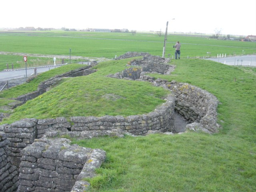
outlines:
[[[239,42],[216,40],[203,37],[188,37],[168,35],[165,56],[174,55],[172,46],[180,41],[181,57],[216,57],[217,54],[227,56],[254,54],[254,42]],[[162,56],[164,36],[159,37],[152,33],[97,33],[97,32],[0,32],[0,52],[56,55],[57,62],[62,56],[83,56],[95,58],[114,58],[126,52],[149,52],[152,55]],[[211,54],[207,54],[211,52]],[[60,58],[58,58],[58,56]],[[52,58],[38,56],[28,57],[28,65],[42,65],[43,62],[52,63]],[[6,69],[6,64],[13,63],[14,68],[24,68],[23,55],[6,56],[0,54],[0,71]]]

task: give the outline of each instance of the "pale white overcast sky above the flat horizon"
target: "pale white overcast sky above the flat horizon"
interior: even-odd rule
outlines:
[[[1,0],[0,6],[0,28],[165,32],[168,21],[168,32],[256,35],[256,0]]]

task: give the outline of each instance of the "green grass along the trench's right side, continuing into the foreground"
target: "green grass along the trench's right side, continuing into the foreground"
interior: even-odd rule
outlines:
[[[74,139],[73,143],[107,152],[98,176],[86,179],[92,185],[90,191],[255,191],[254,69],[198,59],[172,64],[177,67],[170,76],[151,75],[188,82],[216,95],[222,129],[214,135],[188,132],[175,136]]]

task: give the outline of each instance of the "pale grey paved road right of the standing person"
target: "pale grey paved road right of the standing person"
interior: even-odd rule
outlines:
[[[212,61],[220,62],[226,65],[256,66],[256,55],[207,58],[206,60],[212,60]]]

